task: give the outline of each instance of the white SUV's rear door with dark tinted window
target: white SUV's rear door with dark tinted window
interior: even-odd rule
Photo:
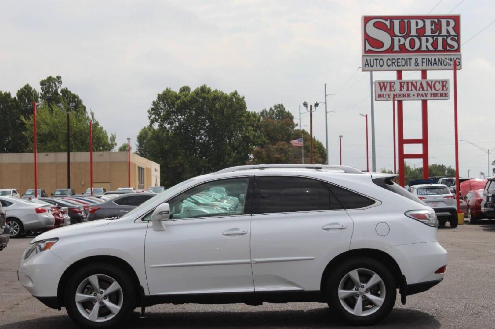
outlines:
[[[319,290],[335,256],[349,250],[353,222],[322,181],[256,176],[251,216],[255,292]]]

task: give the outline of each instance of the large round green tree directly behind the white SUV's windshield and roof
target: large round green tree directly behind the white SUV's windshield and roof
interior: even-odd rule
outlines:
[[[155,131],[164,134],[159,137],[159,154],[148,158],[160,159],[161,177],[167,186],[247,163],[257,135],[256,116],[247,111],[243,96],[206,85],[193,91],[189,86],[178,92],[165,89],[151,103],[148,118]],[[147,147],[147,143],[139,143],[140,152]]]

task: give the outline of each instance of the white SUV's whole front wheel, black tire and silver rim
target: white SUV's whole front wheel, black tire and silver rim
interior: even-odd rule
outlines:
[[[65,290],[67,313],[85,328],[116,326],[133,311],[135,302],[131,277],[111,264],[83,267],[74,273]]]

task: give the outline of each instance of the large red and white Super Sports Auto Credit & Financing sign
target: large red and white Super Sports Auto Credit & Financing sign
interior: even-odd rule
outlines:
[[[460,42],[460,15],[363,16],[362,69],[460,69]]]

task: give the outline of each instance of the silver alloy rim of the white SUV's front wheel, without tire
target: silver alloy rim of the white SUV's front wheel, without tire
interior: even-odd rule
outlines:
[[[84,279],[76,290],[76,307],[83,317],[93,322],[105,322],[122,308],[124,295],[118,282],[104,274]]]

